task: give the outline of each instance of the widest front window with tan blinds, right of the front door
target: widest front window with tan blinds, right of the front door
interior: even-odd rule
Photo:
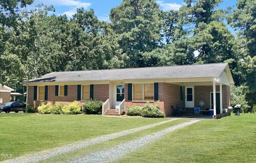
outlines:
[[[154,84],[133,84],[133,100],[154,100]]]

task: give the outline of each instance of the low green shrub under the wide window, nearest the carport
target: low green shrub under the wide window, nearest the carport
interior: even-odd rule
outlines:
[[[147,103],[145,106],[142,107],[141,116],[149,118],[163,118],[165,117],[165,114],[156,106]]]

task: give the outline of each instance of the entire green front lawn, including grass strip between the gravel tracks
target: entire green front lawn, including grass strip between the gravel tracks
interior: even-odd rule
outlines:
[[[25,153],[167,119],[98,115],[0,114],[0,153],[17,157]],[[107,149],[187,121],[189,120],[179,119],[43,162],[67,161],[73,157]],[[256,162],[255,147],[256,114],[242,114],[218,120],[203,119],[196,124],[166,134],[117,162]],[[0,159],[3,160],[3,158]]]

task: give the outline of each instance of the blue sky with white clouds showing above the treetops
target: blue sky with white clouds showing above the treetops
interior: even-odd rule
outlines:
[[[55,14],[66,14],[68,18],[76,13],[76,8],[84,7],[86,10],[93,8],[98,19],[101,21],[109,21],[109,13],[111,8],[121,4],[122,0],[35,0],[34,3],[28,7],[34,7],[36,4],[43,3],[45,5],[53,5]],[[159,7],[164,11],[179,10],[183,1],[178,0],[156,0]],[[223,0],[220,8],[227,8],[236,4],[235,0]]]

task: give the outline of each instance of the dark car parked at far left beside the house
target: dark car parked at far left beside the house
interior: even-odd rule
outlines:
[[[7,102],[4,105],[0,106],[0,112],[4,111],[5,113],[10,113],[10,111],[15,111],[15,113],[18,113],[19,111],[26,112],[26,104],[22,102]]]

